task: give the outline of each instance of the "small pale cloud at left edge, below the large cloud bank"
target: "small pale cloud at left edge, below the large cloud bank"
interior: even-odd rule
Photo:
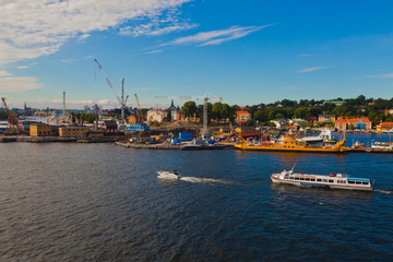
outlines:
[[[19,93],[27,90],[37,90],[40,86],[32,76],[4,76],[0,78],[0,93]]]

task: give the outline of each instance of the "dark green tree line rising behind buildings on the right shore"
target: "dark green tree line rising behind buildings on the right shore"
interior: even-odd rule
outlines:
[[[246,106],[247,111],[251,114],[251,120],[248,124],[254,124],[259,121],[261,124],[270,124],[273,119],[293,119],[293,118],[306,118],[318,117],[319,115],[335,115],[336,117],[343,116],[348,118],[355,117],[368,117],[373,124],[378,124],[381,121],[392,121],[393,115],[385,115],[386,109],[393,108],[393,98],[366,98],[364,95],[359,95],[356,98],[343,99],[341,97],[334,99],[344,102],[343,105],[335,105],[333,103],[326,103],[325,100],[308,100],[300,99],[290,100],[283,99],[271,104],[259,104],[252,106]],[[235,121],[236,111],[239,110],[236,105],[229,106],[221,102],[207,103],[209,120],[229,120]],[[203,105],[196,106],[194,102],[187,102],[181,107],[181,114],[183,117],[203,118]],[[202,120],[201,120],[202,121]]]

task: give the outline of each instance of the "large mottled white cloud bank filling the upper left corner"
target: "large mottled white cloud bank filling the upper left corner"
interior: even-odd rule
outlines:
[[[127,29],[120,28],[122,34],[133,32],[140,25],[127,24],[130,21],[144,22],[144,28],[136,29],[136,34],[155,35],[188,28],[190,25],[179,22],[176,14],[188,1],[0,1],[0,64],[53,53],[69,39],[85,40],[94,31],[123,25]],[[151,20],[153,25],[150,25]]]

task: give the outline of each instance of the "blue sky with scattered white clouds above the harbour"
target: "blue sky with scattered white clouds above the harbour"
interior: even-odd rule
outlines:
[[[0,0],[10,107],[393,96],[393,1]],[[156,98],[160,96],[160,98]],[[163,98],[162,96],[167,96]],[[200,103],[199,100],[195,100]],[[215,99],[212,99],[214,103]]]

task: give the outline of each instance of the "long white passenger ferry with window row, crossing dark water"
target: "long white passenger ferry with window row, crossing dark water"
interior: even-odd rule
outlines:
[[[299,187],[319,187],[331,189],[348,189],[372,191],[372,183],[368,178],[354,178],[343,174],[308,175],[296,174],[294,168],[271,176],[273,182],[289,183]]]

